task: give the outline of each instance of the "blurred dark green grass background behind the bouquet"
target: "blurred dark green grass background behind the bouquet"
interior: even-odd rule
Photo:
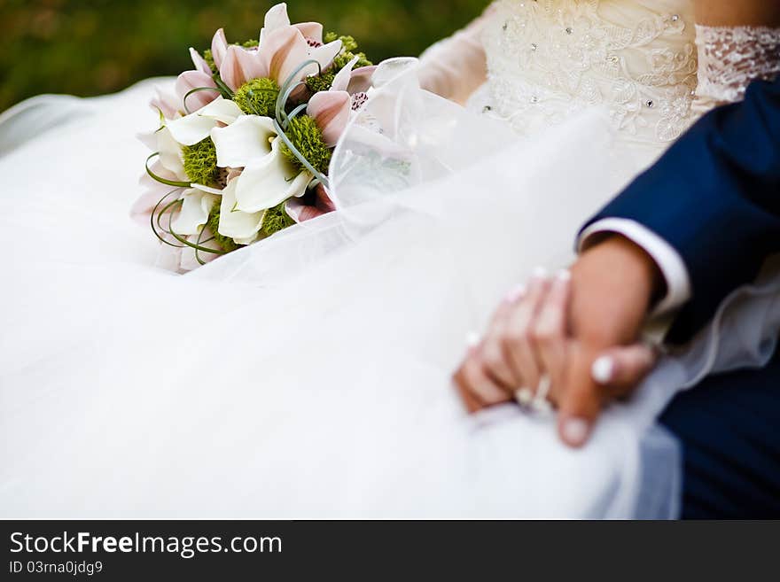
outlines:
[[[255,38],[271,0],[0,0],[0,111],[39,93],[111,93],[191,68],[188,47]],[[293,22],[353,35],[372,60],[417,55],[487,0],[289,0]]]

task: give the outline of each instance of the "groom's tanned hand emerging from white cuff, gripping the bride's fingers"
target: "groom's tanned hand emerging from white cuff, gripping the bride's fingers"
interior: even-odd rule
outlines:
[[[561,366],[558,431],[581,446],[605,401],[633,392],[655,363],[651,348],[636,341],[663,277],[644,249],[614,236],[581,255],[571,283],[573,341]]]

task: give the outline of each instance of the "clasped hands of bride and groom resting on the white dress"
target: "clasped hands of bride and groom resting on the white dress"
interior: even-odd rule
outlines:
[[[455,375],[470,411],[543,384],[566,444],[584,444],[605,401],[632,392],[655,355],[634,344],[662,281],[651,258],[623,237],[585,252],[571,274],[534,275],[504,299],[487,334]]]

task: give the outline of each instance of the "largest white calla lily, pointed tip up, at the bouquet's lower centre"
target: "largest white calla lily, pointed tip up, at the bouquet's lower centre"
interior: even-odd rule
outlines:
[[[312,175],[292,166],[281,151],[282,138],[271,143],[270,153],[253,160],[244,168],[236,182],[237,208],[253,213],[277,206],[287,198],[298,198],[306,192]]]

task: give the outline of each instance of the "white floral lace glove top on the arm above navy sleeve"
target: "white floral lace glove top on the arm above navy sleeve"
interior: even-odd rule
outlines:
[[[751,81],[780,74],[780,28],[696,26],[700,102],[741,101]]]

